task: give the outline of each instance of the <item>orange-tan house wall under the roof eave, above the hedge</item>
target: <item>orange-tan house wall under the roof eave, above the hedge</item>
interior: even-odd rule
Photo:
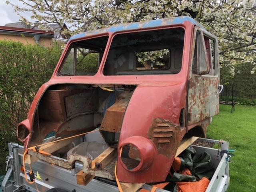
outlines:
[[[18,35],[7,35],[7,34],[0,34],[0,40],[8,40],[8,41],[18,41],[23,44],[36,44],[36,41],[33,37],[29,36],[18,36]],[[45,47],[52,46],[52,38],[40,38],[39,44]]]

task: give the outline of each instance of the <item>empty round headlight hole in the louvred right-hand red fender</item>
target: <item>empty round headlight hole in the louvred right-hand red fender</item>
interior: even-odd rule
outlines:
[[[121,160],[128,170],[132,170],[140,164],[140,151],[133,144],[126,144],[122,147]]]

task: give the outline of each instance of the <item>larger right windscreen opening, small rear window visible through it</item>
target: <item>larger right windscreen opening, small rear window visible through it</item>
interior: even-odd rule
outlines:
[[[177,74],[182,68],[184,34],[183,28],[117,34],[103,73]]]

